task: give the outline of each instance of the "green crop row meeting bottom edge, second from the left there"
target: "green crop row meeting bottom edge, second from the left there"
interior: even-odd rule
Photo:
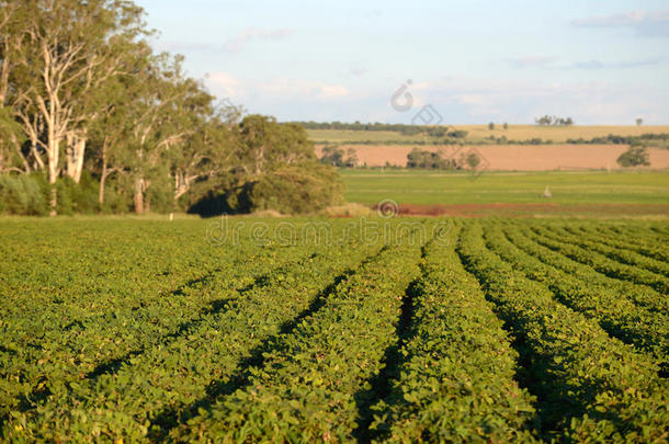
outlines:
[[[313,316],[281,338],[245,389],[223,397],[175,432],[191,442],[351,441],[359,403],[396,341],[420,249],[389,247],[341,282]]]

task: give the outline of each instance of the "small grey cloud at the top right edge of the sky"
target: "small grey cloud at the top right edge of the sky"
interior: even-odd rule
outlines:
[[[646,37],[669,37],[669,10],[591,16],[575,20],[571,24],[576,27],[628,27]]]

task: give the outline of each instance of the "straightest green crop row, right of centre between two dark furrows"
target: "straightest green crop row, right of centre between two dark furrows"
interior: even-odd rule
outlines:
[[[450,240],[424,249],[402,363],[372,426],[387,442],[526,442],[534,408],[518,353]]]

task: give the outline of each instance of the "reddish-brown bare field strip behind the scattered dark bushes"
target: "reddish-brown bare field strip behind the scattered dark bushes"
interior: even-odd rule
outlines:
[[[320,157],[321,146],[316,147]],[[358,152],[361,164],[383,167],[406,167],[407,155],[415,147],[411,145],[342,145],[347,150],[353,148]],[[446,156],[458,156],[460,152],[476,150],[487,162],[491,171],[545,171],[545,170],[579,170],[579,169],[617,169],[615,160],[627,149],[624,145],[487,145],[487,146],[426,146],[420,147],[435,151],[442,150]],[[461,151],[457,151],[457,150]],[[669,150],[648,149],[654,169],[669,168]]]

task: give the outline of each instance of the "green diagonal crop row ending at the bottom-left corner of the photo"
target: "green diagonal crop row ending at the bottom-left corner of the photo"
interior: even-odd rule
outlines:
[[[230,292],[224,286],[216,310],[117,369],[57,387],[46,402],[13,414],[10,437],[136,441],[160,435],[160,428],[171,426],[207,397],[212,383],[235,383],[234,371],[252,357],[253,349],[308,309],[328,282],[366,252],[356,243],[318,250],[304,249],[297,263],[286,261],[247,288]]]

